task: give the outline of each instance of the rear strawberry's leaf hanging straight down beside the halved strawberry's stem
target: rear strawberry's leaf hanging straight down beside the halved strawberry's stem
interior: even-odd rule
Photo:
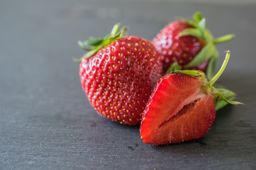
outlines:
[[[212,79],[216,72],[216,66],[219,58],[219,52],[218,50],[213,53],[213,56],[208,62],[207,69],[206,69],[206,77],[208,80]]]

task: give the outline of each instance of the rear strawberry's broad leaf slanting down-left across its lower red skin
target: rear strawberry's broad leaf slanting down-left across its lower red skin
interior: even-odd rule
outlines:
[[[201,51],[194,57],[191,62],[186,64],[184,68],[191,68],[198,66],[199,64],[209,60],[211,57],[213,57],[213,54],[216,53],[217,49],[215,48],[214,44],[212,42],[207,43]]]

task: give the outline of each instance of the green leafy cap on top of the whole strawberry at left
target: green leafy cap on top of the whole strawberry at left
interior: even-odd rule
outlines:
[[[114,42],[115,40],[118,40],[119,38],[124,37],[128,32],[128,27],[123,26],[120,29],[121,24],[117,23],[113,26],[112,31],[110,34],[106,35],[105,38],[89,38],[85,41],[78,41],[78,45],[81,47],[81,49],[84,49],[88,51],[81,57],[80,59],[74,58],[73,60],[75,62],[81,62],[83,58],[89,58],[95,53],[97,53],[100,49],[102,49],[104,46],[109,45],[110,43]]]

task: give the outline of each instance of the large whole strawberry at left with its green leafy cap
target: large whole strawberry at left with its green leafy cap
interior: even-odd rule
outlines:
[[[146,102],[162,75],[155,47],[143,38],[125,36],[116,24],[104,39],[79,41],[89,50],[79,60],[81,86],[94,109],[121,124],[139,124]],[[88,47],[90,46],[90,47]]]

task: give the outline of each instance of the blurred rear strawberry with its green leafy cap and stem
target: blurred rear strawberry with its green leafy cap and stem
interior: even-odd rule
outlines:
[[[195,12],[193,20],[175,20],[166,25],[152,40],[159,53],[163,55],[163,71],[200,70],[207,72],[211,79],[214,75],[218,50],[215,44],[234,38],[233,34],[220,38],[205,28],[205,18]]]

